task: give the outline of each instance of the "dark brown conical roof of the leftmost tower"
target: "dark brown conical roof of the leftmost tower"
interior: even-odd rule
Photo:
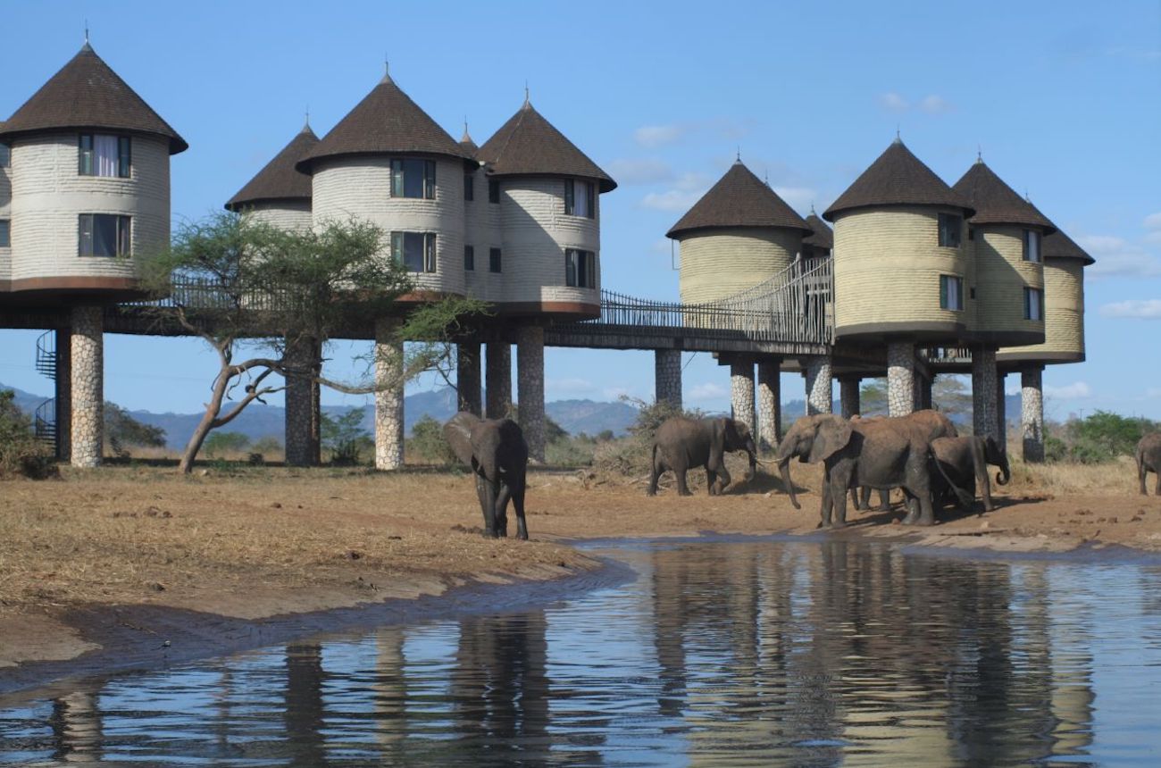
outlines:
[[[88,43],[3,123],[0,142],[58,129],[150,133],[168,139],[170,154],[189,148]]]

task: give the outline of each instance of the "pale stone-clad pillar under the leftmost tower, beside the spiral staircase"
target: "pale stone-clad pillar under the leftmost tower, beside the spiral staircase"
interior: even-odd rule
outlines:
[[[100,306],[72,312],[73,466],[100,466],[104,444],[104,313]]]

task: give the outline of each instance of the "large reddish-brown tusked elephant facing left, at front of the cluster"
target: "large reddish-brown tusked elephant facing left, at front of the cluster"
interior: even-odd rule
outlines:
[[[774,461],[783,472],[791,502],[801,508],[789,476],[789,459],[795,456],[809,464],[823,462],[820,526],[842,528],[846,524],[846,491],[853,486],[901,487],[910,507],[903,522],[935,523],[929,465],[931,440],[922,419],[848,421],[822,413],[795,421],[778,445]]]

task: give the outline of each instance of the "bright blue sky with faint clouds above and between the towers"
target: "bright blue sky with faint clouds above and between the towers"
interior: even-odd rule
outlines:
[[[2,5],[0,113],[75,55],[87,23],[96,52],[189,143],[171,166],[175,227],[221,210],[308,110],[329,131],[384,60],[454,138],[467,121],[478,144],[527,84],[619,183],[601,196],[603,285],[647,298],[677,299],[665,232],[738,155],[805,216],[896,131],[947,183],[982,152],[1097,260],[1088,360],[1048,367],[1046,415],[1161,419],[1158,0]],[[48,393],[36,335],[0,329],[0,382]],[[336,343],[330,365],[341,374],[363,352]],[[705,353],[683,362],[686,405],[728,411],[728,369]],[[652,398],[649,352],[548,349],[545,363],[549,400]],[[197,411],[215,371],[197,340],[106,335],[106,398],[130,408]],[[802,390],[783,376],[784,400]]]

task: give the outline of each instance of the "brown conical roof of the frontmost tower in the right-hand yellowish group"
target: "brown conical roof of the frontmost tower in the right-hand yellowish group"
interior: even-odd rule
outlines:
[[[944,183],[899,139],[822,216],[834,222],[842,211],[884,205],[944,205],[961,208],[967,216],[975,212],[962,195]]]

